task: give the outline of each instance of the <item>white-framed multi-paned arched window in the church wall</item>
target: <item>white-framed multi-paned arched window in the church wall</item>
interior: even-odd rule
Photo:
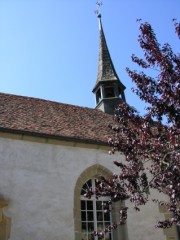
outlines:
[[[82,240],[98,240],[93,236],[93,231],[103,231],[111,224],[111,211],[104,211],[104,205],[108,201],[107,197],[96,199],[92,196],[90,199],[85,197],[87,191],[94,191],[96,188],[96,179],[88,180],[81,189],[81,230]],[[107,232],[103,240],[113,240],[112,232]]]

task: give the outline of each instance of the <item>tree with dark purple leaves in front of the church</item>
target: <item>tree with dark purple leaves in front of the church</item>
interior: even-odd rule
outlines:
[[[180,38],[180,24],[176,20],[174,24]],[[121,152],[125,160],[114,162],[118,174],[99,179],[95,194],[97,198],[109,196],[108,204],[129,199],[139,211],[151,189],[155,189],[163,197],[153,201],[172,216],[159,221],[156,227],[168,228],[180,225],[180,55],[168,43],[161,46],[147,22],[140,23],[138,41],[144,59],[133,55],[132,61],[143,71],[127,68],[127,73],[136,84],[133,91],[147,103],[147,113],[140,116],[125,102],[115,110],[115,123],[109,126],[114,131],[109,139],[110,153]],[[148,69],[154,69],[157,76],[150,77]],[[127,211],[122,207],[119,222],[104,231],[124,224]]]

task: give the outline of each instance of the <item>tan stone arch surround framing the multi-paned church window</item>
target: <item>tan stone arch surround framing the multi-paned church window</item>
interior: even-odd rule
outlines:
[[[107,178],[109,175],[111,175],[112,172],[108,170],[107,168],[103,167],[102,165],[95,164],[89,168],[87,168],[78,178],[76,185],[75,185],[75,191],[74,191],[74,230],[75,230],[75,240],[83,240],[83,226],[82,221],[84,221],[83,224],[87,224],[87,219],[82,219],[82,189],[88,183],[88,181],[91,183],[94,179],[96,179],[99,175],[102,175],[103,177]],[[94,184],[94,183],[93,183]],[[83,205],[87,206],[87,202],[83,203]],[[94,203],[93,203],[94,204]],[[90,203],[91,205],[91,203]],[[90,206],[89,205],[89,206]],[[117,222],[119,218],[118,210],[120,208],[121,204],[120,202],[117,202],[113,204],[112,206],[112,216],[111,220],[112,222]],[[86,207],[87,210],[87,207]],[[83,211],[86,211],[83,209]],[[93,210],[94,211],[94,210]],[[97,220],[97,219],[96,219]],[[108,220],[107,220],[108,222]],[[90,223],[91,224],[91,223]],[[102,224],[102,222],[101,222]],[[89,236],[90,237],[90,236]],[[86,235],[86,239],[93,239],[96,240],[96,238],[88,238]],[[120,226],[117,230],[113,231],[112,236],[108,235],[105,239],[112,239],[112,240],[126,240],[127,239],[127,228],[126,226]]]

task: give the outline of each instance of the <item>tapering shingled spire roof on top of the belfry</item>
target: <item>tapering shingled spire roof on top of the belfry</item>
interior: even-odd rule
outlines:
[[[119,77],[116,73],[113,62],[111,60],[111,56],[109,53],[109,49],[106,43],[106,38],[105,38],[103,27],[102,27],[101,14],[98,15],[98,20],[99,20],[99,30],[100,30],[100,41],[99,41],[99,60],[98,60],[98,73],[97,73],[96,86],[101,81],[118,81],[121,85],[121,88],[125,89],[125,86],[119,80]]]

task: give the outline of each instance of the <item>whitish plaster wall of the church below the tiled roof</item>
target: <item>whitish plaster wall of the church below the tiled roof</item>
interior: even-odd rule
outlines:
[[[117,170],[106,151],[0,138],[0,193],[10,199],[11,240],[73,240],[74,188],[98,163]],[[157,209],[130,210],[129,240],[163,240],[154,229]],[[122,239],[123,240],[123,239]]]

